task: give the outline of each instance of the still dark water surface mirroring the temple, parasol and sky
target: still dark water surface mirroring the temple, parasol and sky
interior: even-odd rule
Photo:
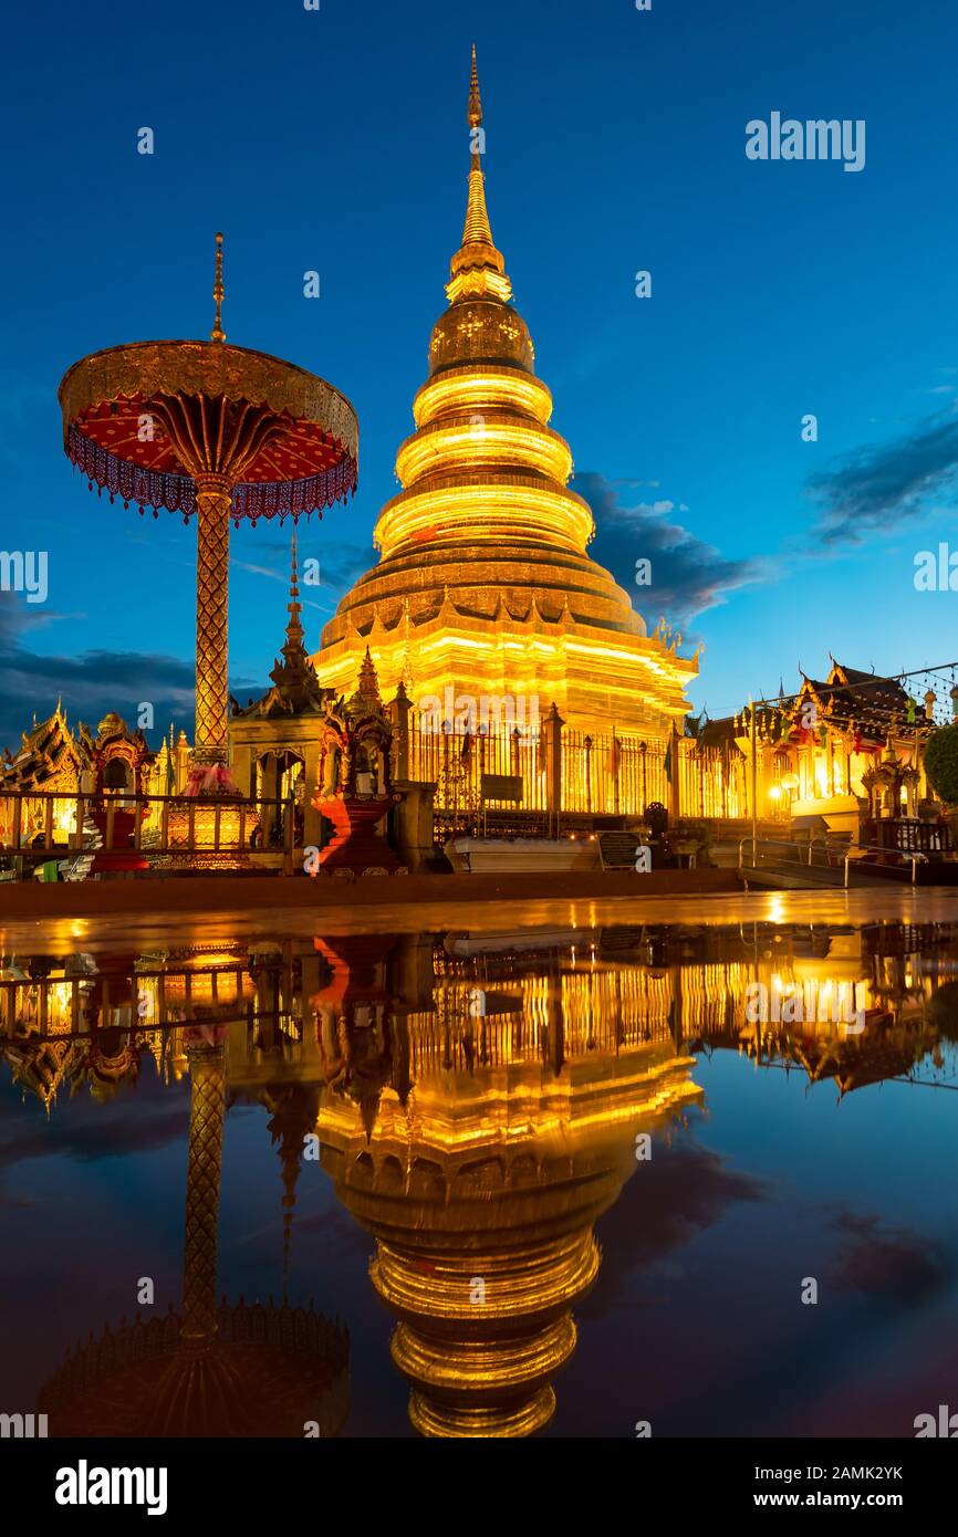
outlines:
[[[958,1366],[958,921],[723,911],[6,934],[5,1405],[913,1436]]]

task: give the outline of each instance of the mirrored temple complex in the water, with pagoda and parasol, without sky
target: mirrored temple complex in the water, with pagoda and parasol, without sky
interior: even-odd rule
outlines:
[[[40,1394],[51,1434],[343,1426],[346,1331],[286,1299],[311,1157],[375,1240],[415,1429],[543,1428],[600,1270],[597,1219],[641,1177],[641,1134],[655,1145],[703,1104],[698,1056],[804,1071],[837,1097],[953,1087],[956,941],[932,924],[672,925],[5,958],[0,1050],[23,1114],[108,1104],[148,1056],[191,1099],[181,1306],[78,1313],[78,1334],[100,1333]],[[752,1019],[757,984],[772,1007]],[[841,988],[861,1030],[781,1007]],[[223,1117],[243,1105],[268,1111],[280,1167],[280,1305],[218,1296]]]

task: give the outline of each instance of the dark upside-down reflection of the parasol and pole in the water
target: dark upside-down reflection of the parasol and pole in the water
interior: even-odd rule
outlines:
[[[198,1013],[198,1011],[197,1011]],[[188,1033],[183,1311],[121,1323],[40,1394],[51,1436],[335,1436],[349,1408],[349,1336],[304,1308],[217,1306],[226,1076],[215,1010]],[[308,1426],[314,1426],[309,1429]]]

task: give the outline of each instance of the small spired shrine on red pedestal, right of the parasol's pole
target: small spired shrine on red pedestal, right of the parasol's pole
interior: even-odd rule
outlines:
[[[377,824],[401,796],[392,790],[392,725],[380,699],[369,647],[355,693],[335,704],[326,701],[324,712],[312,804],[332,822],[335,836],[320,850],[318,870],[391,875],[400,870],[400,861]]]

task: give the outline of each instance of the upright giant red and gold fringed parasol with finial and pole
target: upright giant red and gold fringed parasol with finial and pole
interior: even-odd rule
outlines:
[[[326,380],[226,346],[217,235],[209,341],[137,341],[74,363],[60,384],[63,441],[94,481],[131,501],[197,515],[194,762],[226,762],[229,518],[292,516],[355,492],[358,424]]]

